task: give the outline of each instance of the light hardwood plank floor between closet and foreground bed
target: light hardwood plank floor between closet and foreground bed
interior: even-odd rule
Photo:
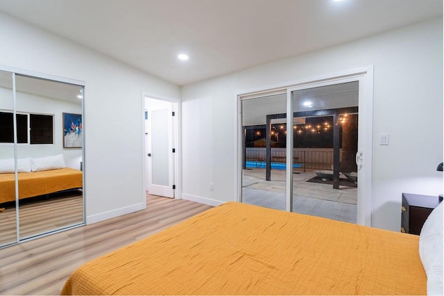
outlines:
[[[1,295],[58,295],[83,263],[211,206],[146,195],[146,210],[0,249]]]

